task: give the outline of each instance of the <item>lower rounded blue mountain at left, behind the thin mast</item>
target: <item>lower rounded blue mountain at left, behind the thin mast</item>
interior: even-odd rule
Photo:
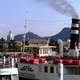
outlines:
[[[36,35],[36,34],[34,34],[34,33],[32,33],[32,32],[28,32],[28,33],[26,33],[26,40],[27,39],[41,39],[41,37]],[[17,41],[24,40],[24,34],[16,35],[15,36],[15,40],[17,40]]]

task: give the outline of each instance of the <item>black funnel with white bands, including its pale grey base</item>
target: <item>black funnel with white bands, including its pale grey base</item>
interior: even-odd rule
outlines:
[[[70,42],[70,50],[69,54],[72,57],[77,57],[78,54],[78,44],[79,44],[79,19],[72,19],[72,27],[71,27],[71,42]]]

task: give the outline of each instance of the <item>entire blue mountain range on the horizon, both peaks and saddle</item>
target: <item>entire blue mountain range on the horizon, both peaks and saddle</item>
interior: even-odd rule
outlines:
[[[27,39],[53,39],[53,40],[58,40],[61,39],[63,41],[66,41],[67,39],[70,38],[70,28],[64,28],[62,29],[58,34],[50,36],[50,37],[40,37],[37,34],[34,34],[32,32],[26,33],[26,40]],[[15,36],[15,40],[21,41],[24,39],[24,34],[18,34]]]

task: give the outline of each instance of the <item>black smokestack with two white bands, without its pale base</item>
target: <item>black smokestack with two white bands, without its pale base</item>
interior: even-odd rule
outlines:
[[[80,20],[79,19],[72,19],[70,49],[75,49],[75,46],[77,46],[77,48],[78,48],[79,25],[80,25]]]

